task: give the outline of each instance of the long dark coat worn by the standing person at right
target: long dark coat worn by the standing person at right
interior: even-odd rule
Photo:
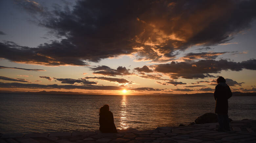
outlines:
[[[228,99],[232,96],[232,92],[226,83],[219,83],[215,87],[214,98],[216,100],[215,113],[227,114]]]

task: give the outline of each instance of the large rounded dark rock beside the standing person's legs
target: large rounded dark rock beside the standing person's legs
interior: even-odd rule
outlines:
[[[205,113],[195,120],[196,124],[216,123],[216,122],[218,122],[218,116],[215,113]]]

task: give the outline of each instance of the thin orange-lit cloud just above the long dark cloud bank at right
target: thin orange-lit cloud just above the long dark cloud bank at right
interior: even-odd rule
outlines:
[[[195,60],[195,59],[216,59],[219,55],[223,55],[228,52],[202,52],[202,53],[188,53],[182,57],[184,60]]]

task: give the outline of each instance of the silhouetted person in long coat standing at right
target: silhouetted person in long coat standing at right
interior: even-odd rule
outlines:
[[[220,76],[217,79],[218,85],[215,87],[214,98],[216,100],[215,113],[218,114],[219,129],[217,131],[230,131],[229,119],[227,115],[228,99],[232,96],[232,92],[229,86],[226,84],[226,80]]]

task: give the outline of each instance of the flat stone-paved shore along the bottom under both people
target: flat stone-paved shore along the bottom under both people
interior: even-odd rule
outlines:
[[[232,121],[231,131],[217,132],[218,123],[118,133],[53,132],[1,134],[0,143],[256,143],[256,120]]]

